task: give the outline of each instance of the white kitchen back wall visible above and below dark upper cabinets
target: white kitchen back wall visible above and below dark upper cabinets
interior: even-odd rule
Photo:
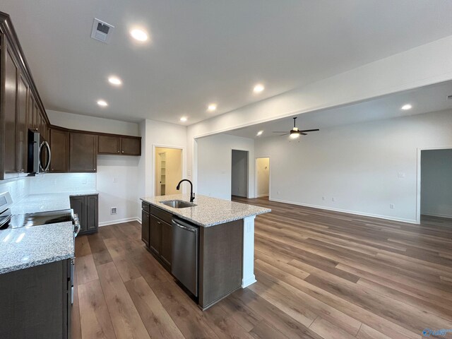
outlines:
[[[138,124],[86,117],[79,114],[66,112],[47,111],[51,124],[63,126],[68,129],[80,129],[83,131],[97,131],[105,133],[117,133],[129,136],[138,136]],[[145,149],[142,147],[142,153]],[[97,173],[95,174],[44,174],[43,183],[39,186],[32,186],[32,193],[37,193],[44,189],[45,183],[51,187],[53,178],[58,178],[59,182],[67,182],[71,191],[83,190],[83,185],[78,181],[73,181],[74,176],[95,178],[95,187],[99,192],[99,225],[109,225],[127,220],[136,220],[141,216],[141,202],[138,196],[138,166],[140,157],[120,156],[120,155],[97,155]],[[64,191],[70,191],[65,186]],[[110,215],[110,208],[117,207],[117,214]]]

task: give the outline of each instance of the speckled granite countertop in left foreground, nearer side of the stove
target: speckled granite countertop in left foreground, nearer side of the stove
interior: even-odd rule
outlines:
[[[72,222],[0,231],[0,274],[73,256]]]

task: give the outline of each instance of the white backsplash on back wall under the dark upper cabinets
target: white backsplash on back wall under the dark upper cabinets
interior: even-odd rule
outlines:
[[[46,173],[30,178],[30,194],[95,191],[95,173]]]

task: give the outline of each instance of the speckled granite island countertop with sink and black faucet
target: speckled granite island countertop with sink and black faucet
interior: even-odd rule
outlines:
[[[208,196],[196,196],[196,206],[187,208],[172,208],[160,203],[160,201],[183,200],[190,201],[189,194],[172,194],[168,196],[151,196],[141,198],[150,205],[166,210],[169,213],[189,220],[202,227],[220,225],[225,222],[244,219],[253,215],[271,212],[270,208],[263,208],[246,203],[236,203]]]

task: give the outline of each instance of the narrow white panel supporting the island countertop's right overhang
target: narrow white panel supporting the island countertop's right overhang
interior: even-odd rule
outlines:
[[[243,275],[242,288],[256,283],[254,276],[254,219],[256,215],[243,220]]]

